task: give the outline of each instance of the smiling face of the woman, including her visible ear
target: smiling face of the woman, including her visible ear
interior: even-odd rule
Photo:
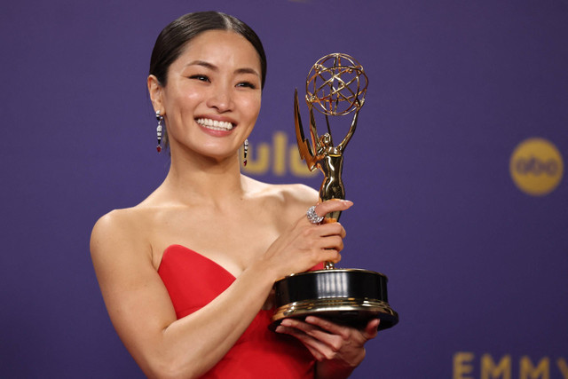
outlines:
[[[261,77],[258,54],[243,36],[210,30],[194,37],[171,64],[165,87],[148,80],[154,109],[162,111],[168,127],[172,154],[187,150],[216,160],[233,156],[260,111]]]

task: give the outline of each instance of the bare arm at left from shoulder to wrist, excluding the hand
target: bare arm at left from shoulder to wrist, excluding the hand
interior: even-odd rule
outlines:
[[[208,306],[177,320],[151,248],[130,229],[128,220],[110,214],[91,236],[91,257],[114,328],[146,375],[199,376],[254,319],[272,288],[270,270],[250,267]]]

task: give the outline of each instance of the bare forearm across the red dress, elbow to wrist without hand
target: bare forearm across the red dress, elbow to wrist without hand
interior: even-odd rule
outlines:
[[[248,328],[272,282],[266,270],[253,265],[211,303],[172,322],[163,329],[157,349],[146,351],[138,362],[146,375],[196,377],[207,372]]]

